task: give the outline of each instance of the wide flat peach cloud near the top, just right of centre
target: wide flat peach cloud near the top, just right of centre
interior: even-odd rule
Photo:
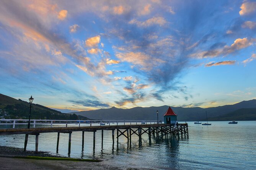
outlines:
[[[153,18],[150,18],[150,19],[148,19],[144,22],[138,21],[137,19],[132,19],[128,23],[129,24],[136,24],[138,27],[148,27],[148,26],[152,26],[152,25],[163,26],[167,23],[167,21],[163,17],[153,17]]]

